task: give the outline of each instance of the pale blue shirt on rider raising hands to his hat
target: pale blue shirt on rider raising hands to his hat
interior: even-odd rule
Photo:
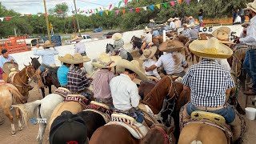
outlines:
[[[34,55],[42,56],[42,63],[46,66],[55,65],[54,55],[58,54],[58,50],[45,49],[45,50],[34,50]]]

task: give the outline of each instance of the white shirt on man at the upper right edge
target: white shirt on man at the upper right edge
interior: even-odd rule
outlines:
[[[256,16],[250,19],[250,26],[247,27],[246,38],[240,38],[240,42],[249,46],[256,46]]]

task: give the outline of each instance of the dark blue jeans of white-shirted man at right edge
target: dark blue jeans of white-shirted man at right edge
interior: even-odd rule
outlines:
[[[253,79],[253,91],[256,93],[256,49],[248,50],[243,62],[246,73]]]

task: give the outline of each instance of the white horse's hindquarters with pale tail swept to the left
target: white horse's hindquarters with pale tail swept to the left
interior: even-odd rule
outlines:
[[[49,121],[55,107],[58,106],[59,103],[64,101],[64,98],[66,98],[67,94],[70,94],[70,90],[59,87],[57,90],[54,91],[54,94],[49,94],[46,96],[46,98],[43,98],[42,100],[29,102],[23,105],[13,105],[13,107],[18,107],[21,110],[23,118],[22,120],[26,125],[34,114],[37,114],[37,118],[46,118],[46,120]],[[37,140],[41,144],[47,124],[38,124],[39,130]]]

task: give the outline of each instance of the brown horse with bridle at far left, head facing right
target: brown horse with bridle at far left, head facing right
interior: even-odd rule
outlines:
[[[30,82],[32,80],[34,80],[34,82],[38,80],[35,74],[34,67],[30,65],[25,66],[21,71],[18,71],[17,74],[14,74],[13,78],[11,78],[10,80],[8,78],[8,75],[3,73],[2,79],[5,82],[10,82],[14,86],[16,86],[18,91],[25,97],[28,97],[29,91],[33,89],[33,86],[30,86]]]

